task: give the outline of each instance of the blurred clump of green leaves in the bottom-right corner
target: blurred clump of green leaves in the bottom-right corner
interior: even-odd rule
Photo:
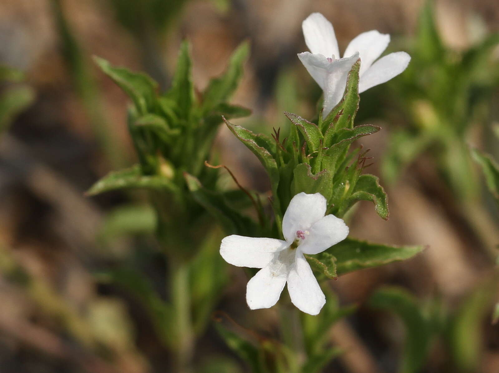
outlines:
[[[407,290],[385,286],[369,301],[371,307],[397,315],[406,330],[404,353],[399,372],[421,372],[430,358],[435,342],[444,344],[452,372],[479,372],[481,367],[483,323],[497,293],[497,274],[481,282],[456,311],[442,300],[421,303]],[[489,326],[490,327],[490,326]]]

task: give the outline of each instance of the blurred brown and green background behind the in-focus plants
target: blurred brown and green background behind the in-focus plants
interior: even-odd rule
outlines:
[[[418,349],[411,345],[418,319],[375,307],[373,294],[386,285],[404,287],[415,314],[435,322],[429,325],[438,336],[422,354],[420,372],[499,372],[499,326],[491,322],[499,300],[499,209],[469,154],[473,147],[499,159],[499,3],[424,5],[1,1],[0,372],[169,372],[170,353],[147,307],[108,280],[126,263],[141,274],[137,282],[146,279],[144,286],[168,297],[154,212],[140,192],[84,195],[109,171],[135,163],[129,101],[91,56],[145,71],[165,89],[187,38],[202,90],[248,39],[250,59],[232,102],[252,115],[235,123],[270,133],[287,126],[283,110],[314,117],[321,91],[296,57],[307,50],[301,21],[312,11],[332,21],[340,50],[377,29],[391,34],[389,51],[413,56],[401,76],[361,95],[356,121],[382,127],[361,143],[374,157],[369,172],[389,195],[390,220],[364,202],[349,226],[354,237],[428,246],[409,261],[330,281],[339,304],[357,309],[328,333],[344,353],[324,372],[410,372],[402,361]],[[267,191],[257,159],[225,127],[214,152],[242,185]],[[277,338],[278,315],[248,310],[247,276],[223,268],[213,309],[230,315],[243,334]],[[213,323],[208,317],[201,328],[195,372],[249,372]]]

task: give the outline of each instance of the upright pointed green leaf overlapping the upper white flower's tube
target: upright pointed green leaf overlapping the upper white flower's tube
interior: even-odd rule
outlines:
[[[353,121],[355,114],[359,109],[359,71],[360,71],[360,58],[353,64],[350,72],[348,73],[345,92],[341,101],[336,105],[333,110],[322,120],[319,127],[322,132],[325,132],[331,125],[334,130],[338,131],[342,128],[353,128]]]

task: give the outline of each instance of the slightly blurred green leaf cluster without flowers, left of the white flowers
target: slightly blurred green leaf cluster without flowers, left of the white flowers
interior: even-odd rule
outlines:
[[[233,53],[226,71],[213,78],[200,94],[192,82],[187,41],[181,45],[177,69],[166,92],[159,92],[158,84],[144,73],[115,67],[103,58],[94,57],[101,70],[132,101],[128,129],[139,164],[110,173],[91,187],[88,194],[124,188],[147,189],[159,216],[158,235],[170,245],[175,245],[172,232],[181,236],[186,222],[199,220],[204,210],[210,210],[207,200],[216,198],[231,209],[230,198],[234,196],[214,191],[218,171],[207,168],[204,162],[209,158],[222,116],[240,118],[250,114],[250,110],[228,103],[242,77],[248,53],[249,44],[243,42]],[[191,193],[189,187],[196,185],[203,187]],[[240,215],[233,210],[231,217],[237,220]]]

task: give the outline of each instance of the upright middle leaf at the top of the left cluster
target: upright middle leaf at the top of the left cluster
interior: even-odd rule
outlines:
[[[172,87],[166,93],[166,97],[177,103],[176,110],[178,111],[178,116],[185,120],[190,118],[191,108],[195,101],[194,84],[191,77],[192,62],[189,50],[189,42],[187,40],[183,41],[180,45]]]

